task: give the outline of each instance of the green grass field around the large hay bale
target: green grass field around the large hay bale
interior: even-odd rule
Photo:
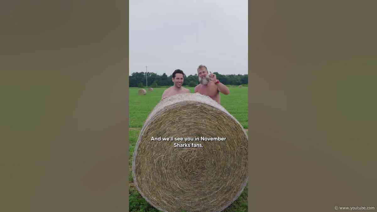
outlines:
[[[187,87],[192,93],[194,93],[194,88]],[[145,89],[145,88],[144,88]],[[146,121],[149,113],[161,100],[162,93],[167,88],[153,88],[153,91],[147,91],[146,95],[138,95],[139,88],[130,88],[129,92],[129,198],[130,198],[130,207],[131,212],[158,212],[157,209],[152,207],[143,197],[139,194],[137,189],[133,186],[133,177],[132,177],[132,156],[133,150],[135,149],[136,141],[138,140],[139,133],[143,127],[144,122]],[[146,89],[147,90],[147,89]],[[230,94],[223,95],[221,94],[221,105],[233,115],[239,123],[245,128],[248,129],[248,88],[247,87],[230,87]],[[226,212],[244,212],[247,211],[247,194],[248,185],[245,187],[242,194],[239,198],[233,202],[227,209]]]

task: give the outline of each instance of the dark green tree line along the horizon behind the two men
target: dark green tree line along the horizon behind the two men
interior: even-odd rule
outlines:
[[[221,81],[222,84],[226,85],[240,85],[248,84],[247,74],[219,74],[218,72],[213,72],[216,74],[216,78]],[[144,72],[133,72],[129,76],[130,87],[142,87],[147,85],[146,74]],[[183,86],[188,85],[190,87],[195,87],[199,84],[198,74],[184,76]],[[157,86],[172,86],[172,75],[158,75],[153,72],[148,72],[148,86],[157,87]]]

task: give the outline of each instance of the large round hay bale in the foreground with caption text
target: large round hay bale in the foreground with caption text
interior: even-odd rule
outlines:
[[[151,141],[152,137],[194,141]],[[195,137],[227,138],[195,141]],[[174,147],[202,144],[202,148]],[[161,211],[221,211],[248,181],[248,138],[224,107],[201,94],[177,94],[149,114],[135,146],[133,181]]]

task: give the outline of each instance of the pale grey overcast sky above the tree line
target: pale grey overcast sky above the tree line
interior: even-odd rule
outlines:
[[[247,74],[247,0],[130,0],[130,75]]]

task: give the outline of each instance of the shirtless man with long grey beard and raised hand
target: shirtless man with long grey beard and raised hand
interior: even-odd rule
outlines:
[[[198,75],[200,84],[195,87],[195,93],[207,95],[219,104],[220,92],[225,95],[230,93],[228,87],[216,79],[215,74],[208,74],[207,67],[204,65],[198,67]]]

